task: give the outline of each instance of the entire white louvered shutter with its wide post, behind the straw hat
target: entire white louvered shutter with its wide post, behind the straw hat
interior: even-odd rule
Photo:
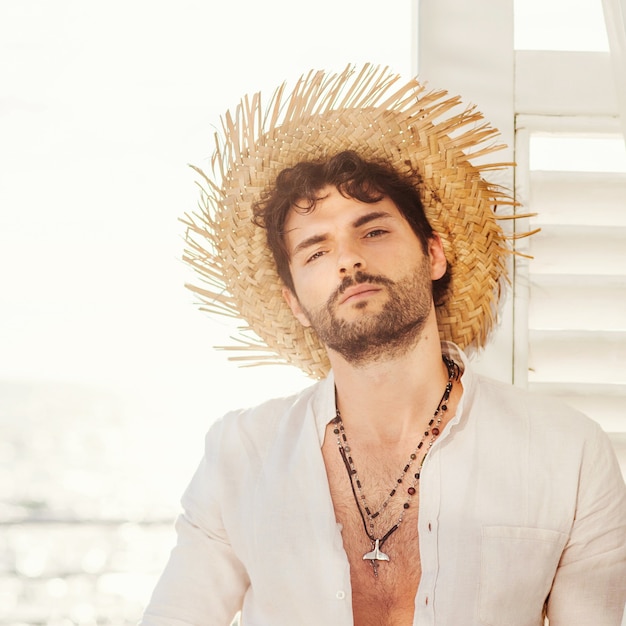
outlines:
[[[500,158],[537,212],[516,231],[542,229],[478,368],[582,409],[626,474],[625,2],[420,0],[417,66],[515,145]]]

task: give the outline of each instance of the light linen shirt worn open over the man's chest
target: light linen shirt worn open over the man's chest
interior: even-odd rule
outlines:
[[[417,626],[619,626],[626,489],[595,422],[472,373],[420,478]],[[229,413],[182,500],[142,626],[353,624],[321,453],[332,374]]]

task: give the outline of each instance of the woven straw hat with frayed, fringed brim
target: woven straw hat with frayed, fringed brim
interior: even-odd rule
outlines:
[[[511,251],[498,220],[512,216],[494,211],[515,203],[482,174],[511,164],[472,165],[469,158],[503,147],[493,142],[497,131],[478,124],[482,115],[474,108],[459,113],[460,98],[398,80],[371,65],[311,72],[289,94],[279,87],[267,106],[255,94],[222,118],[212,175],[194,168],[202,177],[200,210],[183,219],[183,258],[197,272],[196,284],[187,287],[201,308],[244,322],[229,348],[239,353],[232,358],[290,363],[314,378],[328,372],[324,346],[283,300],[265,231],[251,221],[252,205],[284,168],[348,149],[421,173],[426,216],[452,268],[447,300],[437,311],[441,338],[470,351],[485,344]]]

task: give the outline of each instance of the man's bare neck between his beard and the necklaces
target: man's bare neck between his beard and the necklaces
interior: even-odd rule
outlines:
[[[365,442],[393,445],[423,430],[448,380],[436,326],[395,359],[354,366],[330,358],[343,422]]]

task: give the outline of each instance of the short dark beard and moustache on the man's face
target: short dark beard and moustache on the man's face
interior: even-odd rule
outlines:
[[[363,314],[354,321],[336,315],[339,298],[348,287],[360,283],[381,285],[387,302],[378,313]],[[327,348],[353,365],[364,365],[405,354],[421,337],[432,307],[430,264],[425,258],[414,272],[397,282],[386,276],[356,272],[347,276],[319,309],[304,309],[311,327]],[[301,304],[302,306],[302,304]],[[366,309],[367,301],[355,304]]]

